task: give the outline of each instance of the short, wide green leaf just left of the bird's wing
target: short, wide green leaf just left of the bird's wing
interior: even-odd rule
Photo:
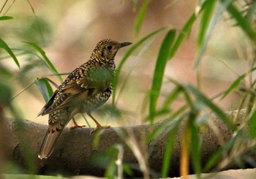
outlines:
[[[41,78],[41,79],[35,80],[35,83],[39,88],[39,91],[41,92],[42,97],[45,99],[45,102],[48,102],[50,97],[53,95],[53,89],[48,83],[48,80],[46,80],[45,78]]]

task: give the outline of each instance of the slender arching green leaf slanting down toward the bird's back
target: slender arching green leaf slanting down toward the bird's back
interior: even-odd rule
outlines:
[[[63,81],[62,77],[59,75],[59,72],[57,71],[55,66],[53,66],[53,64],[50,62],[49,58],[45,55],[45,51],[42,50],[41,47],[39,47],[37,44],[33,42],[25,42],[25,43],[31,45],[31,47],[34,47],[41,54],[42,58],[45,60],[46,66],[48,66],[48,69],[50,69],[50,71],[53,72],[53,74],[57,75],[59,80],[62,82]]]

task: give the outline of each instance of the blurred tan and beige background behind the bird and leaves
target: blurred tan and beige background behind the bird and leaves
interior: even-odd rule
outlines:
[[[197,10],[199,3],[195,0],[151,1],[140,33],[135,36],[135,18],[143,1],[34,0],[30,1],[31,4],[29,1],[14,1],[12,4],[12,1],[1,0],[0,7],[3,7],[5,2],[7,4],[0,15],[12,16],[13,19],[1,21],[0,37],[18,56],[20,69],[12,58],[9,56],[7,58],[7,53],[0,51],[0,70],[10,69],[17,74],[10,75],[8,80],[8,83],[14,86],[14,95],[34,83],[37,78],[52,74],[37,56],[28,55],[20,50],[31,48],[23,42],[35,42],[42,47],[60,73],[72,72],[89,59],[92,50],[101,39],[110,38],[119,42],[135,43],[162,27],[176,28],[180,31],[190,15]],[[167,80],[168,77],[180,83],[198,85],[203,93],[214,98],[250,68],[248,59],[252,58],[251,46],[240,29],[234,25],[227,15],[219,20],[197,69],[194,67],[194,59],[198,24],[193,26],[189,39],[182,43],[176,56],[167,63],[166,78],[162,85],[159,103],[165,98],[165,94],[173,90],[174,86]],[[118,109],[123,113],[115,117],[110,113],[95,112],[96,118],[102,125],[130,126],[145,122],[148,90],[151,88],[154,65],[166,31],[149,39],[140,49],[132,53],[124,64],[118,81],[116,102]],[[117,53],[117,66],[128,49],[129,47],[126,47]],[[56,77],[49,78],[60,84]],[[121,84],[125,80],[127,83],[122,88]],[[238,99],[239,95],[233,93],[224,100],[220,100],[219,97],[214,98],[214,102],[223,110],[235,110],[238,107]],[[17,108],[20,118],[48,123],[48,116],[36,118],[45,104],[36,85],[31,85],[12,99],[12,104]],[[111,99],[108,104],[111,104]],[[181,104],[183,100],[177,99],[173,109]],[[5,114],[7,117],[12,116],[8,111]],[[76,118],[80,118],[80,115],[76,115]],[[78,123],[83,125],[85,121],[80,118]],[[94,123],[91,124],[94,126]]]

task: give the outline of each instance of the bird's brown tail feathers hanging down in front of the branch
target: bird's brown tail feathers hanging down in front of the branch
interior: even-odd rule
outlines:
[[[48,131],[45,134],[45,139],[43,140],[38,153],[39,159],[47,159],[48,156],[50,156],[50,154],[53,152],[57,140],[59,140],[62,131],[63,129],[51,130],[49,126]]]

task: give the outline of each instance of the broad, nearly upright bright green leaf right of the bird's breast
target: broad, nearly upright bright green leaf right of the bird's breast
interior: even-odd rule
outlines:
[[[154,114],[157,107],[157,99],[162,86],[162,79],[164,77],[165,66],[169,59],[170,47],[176,35],[176,30],[171,29],[167,32],[164,41],[159,50],[157,64],[154,69],[154,77],[149,97],[149,121],[154,121]]]

